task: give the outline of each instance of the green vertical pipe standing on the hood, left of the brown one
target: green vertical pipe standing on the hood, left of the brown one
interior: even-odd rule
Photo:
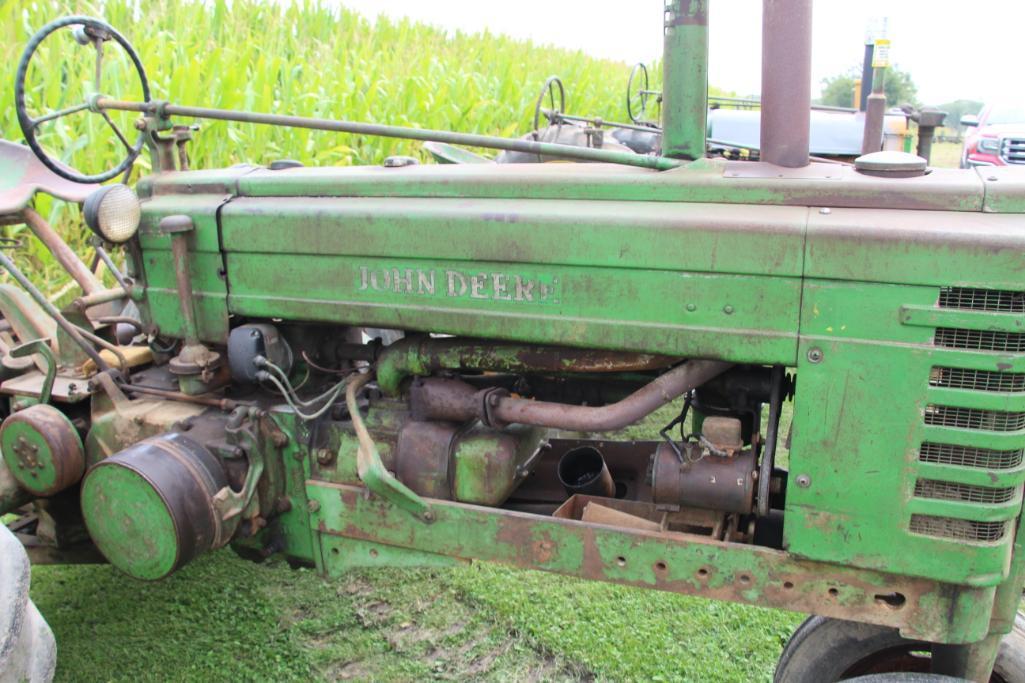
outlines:
[[[662,48],[662,156],[705,156],[708,1],[666,0]]]

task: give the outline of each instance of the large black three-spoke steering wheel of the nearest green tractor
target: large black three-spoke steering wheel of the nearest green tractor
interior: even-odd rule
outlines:
[[[96,68],[93,80],[94,93],[84,103],[73,105],[34,119],[29,115],[25,105],[25,79],[29,71],[29,63],[39,48],[40,43],[51,33],[65,27],[77,27],[73,30],[75,40],[81,45],[91,44],[96,50]],[[135,68],[135,73],[138,75],[139,82],[142,85],[142,99],[144,102],[150,102],[150,83],[146,78],[146,70],[142,68],[142,63],[139,61],[138,54],[135,53],[135,49],[128,43],[124,36],[115,31],[109,24],[97,18],[92,18],[91,16],[66,16],[50,22],[32,37],[29,44],[25,46],[25,52],[22,53],[22,59],[17,64],[17,75],[14,78],[14,108],[17,112],[17,123],[25,134],[25,142],[29,144],[29,148],[47,168],[60,177],[74,180],[75,183],[102,183],[123,173],[135,161],[135,158],[142,150],[142,145],[146,143],[145,132],[139,132],[134,144],[130,143],[111,119],[110,115],[96,105],[96,101],[100,96],[99,85],[104,63],[104,43],[110,40],[118,43],[125,51],[125,54],[131,59],[132,66]],[[114,129],[115,135],[117,135],[127,151],[124,159],[117,166],[93,175],[79,173],[64,164],[57,163],[50,158],[36,138],[39,124],[84,110],[89,110],[104,117],[104,120]]]

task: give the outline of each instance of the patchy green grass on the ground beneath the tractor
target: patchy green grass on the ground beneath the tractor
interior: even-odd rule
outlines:
[[[39,566],[58,681],[767,681],[799,615],[521,571],[329,581],[229,550],[161,582]]]

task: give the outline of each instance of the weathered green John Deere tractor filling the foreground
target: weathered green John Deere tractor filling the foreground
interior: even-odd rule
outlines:
[[[651,153],[590,123],[506,139],[156,102],[114,28],[41,29],[0,215],[81,293],[56,308],[0,250],[2,676],[53,671],[27,557],[157,580],[231,545],[327,576],[483,560],[813,614],[778,683],[1025,681],[1025,175],[811,159],[811,0],[765,0],[757,155],[709,152],[707,5],[666,5]],[[95,94],[35,113],[27,70],[66,32]],[[140,99],[102,94],[105,46]],[[74,112],[120,164],[49,156],[39,125]],[[193,170],[192,117],[459,163]],[[97,185],[144,152],[134,190]],[[37,191],[83,203],[112,278]]]

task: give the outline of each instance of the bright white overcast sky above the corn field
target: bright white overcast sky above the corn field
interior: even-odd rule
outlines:
[[[488,29],[626,63],[651,62],[662,52],[663,0],[334,1],[367,16],[408,16],[451,31]],[[865,35],[884,17],[891,58],[910,72],[926,105],[999,99],[1025,63],[1009,31],[1025,26],[1022,0],[814,0],[813,93],[824,78],[861,64]],[[739,95],[760,92],[761,23],[762,0],[710,1],[712,85]]]

